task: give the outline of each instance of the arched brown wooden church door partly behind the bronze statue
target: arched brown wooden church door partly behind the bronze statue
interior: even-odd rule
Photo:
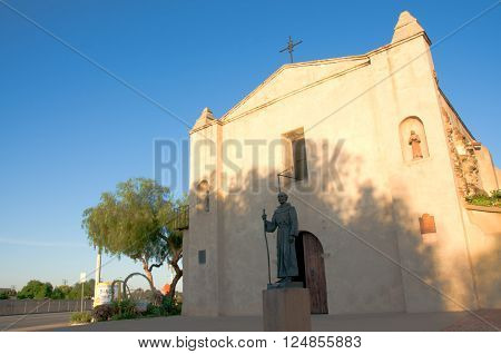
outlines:
[[[304,287],[310,289],[312,314],[328,314],[324,248],[312,233],[301,232],[296,242],[297,266]]]

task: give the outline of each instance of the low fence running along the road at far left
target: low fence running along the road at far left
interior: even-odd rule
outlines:
[[[0,299],[0,316],[78,312],[80,299]],[[84,301],[84,311],[92,309],[92,299]]]

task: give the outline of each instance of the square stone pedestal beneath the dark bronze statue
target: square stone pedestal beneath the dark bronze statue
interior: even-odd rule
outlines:
[[[310,291],[298,287],[263,291],[263,325],[267,332],[312,331]]]

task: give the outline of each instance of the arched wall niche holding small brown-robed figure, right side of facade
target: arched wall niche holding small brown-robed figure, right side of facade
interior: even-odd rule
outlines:
[[[399,127],[400,144],[404,161],[418,161],[430,156],[423,121],[407,117]]]

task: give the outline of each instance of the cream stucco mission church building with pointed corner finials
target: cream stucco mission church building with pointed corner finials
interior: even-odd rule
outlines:
[[[501,208],[465,201],[499,189],[501,173],[440,89],[430,45],[404,11],[389,45],[284,65],[223,117],[204,109],[190,131],[185,315],[262,314],[261,216],[278,180],[312,313],[501,307]]]

